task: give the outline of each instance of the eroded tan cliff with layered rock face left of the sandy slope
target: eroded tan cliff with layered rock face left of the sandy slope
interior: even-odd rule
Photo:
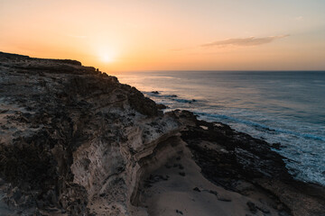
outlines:
[[[0,74],[5,201],[40,214],[128,214],[138,161],[177,121],[77,61],[0,53]]]

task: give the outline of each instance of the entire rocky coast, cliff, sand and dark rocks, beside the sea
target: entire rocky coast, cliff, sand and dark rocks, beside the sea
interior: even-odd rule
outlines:
[[[0,215],[325,215],[271,144],[79,61],[0,52]]]

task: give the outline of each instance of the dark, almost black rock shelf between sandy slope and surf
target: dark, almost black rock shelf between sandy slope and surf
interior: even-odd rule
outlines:
[[[186,125],[181,130],[181,139],[188,144],[202,174],[211,182],[238,193],[242,193],[240,183],[255,185],[253,190],[263,190],[274,197],[274,202],[282,203],[283,214],[325,212],[324,188],[293,179],[283,157],[272,151],[265,140],[232,130],[220,122],[198,121],[192,112],[174,113]]]

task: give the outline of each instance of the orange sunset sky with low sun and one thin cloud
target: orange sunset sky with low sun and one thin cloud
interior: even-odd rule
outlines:
[[[325,70],[324,0],[0,0],[0,51],[106,72]]]

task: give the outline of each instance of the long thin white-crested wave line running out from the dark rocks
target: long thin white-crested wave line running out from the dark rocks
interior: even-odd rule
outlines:
[[[236,121],[236,122],[243,123],[243,124],[246,124],[248,126],[253,126],[255,128],[259,128],[259,129],[263,129],[263,130],[269,130],[269,131],[274,131],[274,132],[278,132],[278,133],[294,135],[294,136],[302,137],[302,138],[305,138],[305,139],[316,139],[316,140],[325,141],[325,137],[321,137],[321,136],[318,136],[318,135],[315,135],[315,134],[300,133],[300,132],[296,132],[296,131],[292,131],[292,130],[284,130],[284,129],[273,128],[273,127],[269,127],[269,126],[261,124],[261,123],[257,123],[255,121],[247,121],[247,120],[237,119],[235,117],[228,116],[228,115],[208,113],[208,112],[195,112],[195,113],[198,114],[198,115],[207,116],[207,117],[210,117],[210,118],[218,118],[218,119]]]

